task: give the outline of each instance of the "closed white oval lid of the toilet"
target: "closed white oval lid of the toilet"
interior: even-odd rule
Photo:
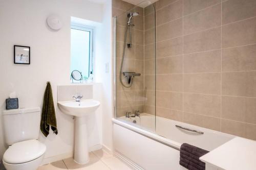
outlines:
[[[46,152],[46,145],[38,140],[25,140],[11,145],[5,152],[6,163],[25,163],[39,158]]]

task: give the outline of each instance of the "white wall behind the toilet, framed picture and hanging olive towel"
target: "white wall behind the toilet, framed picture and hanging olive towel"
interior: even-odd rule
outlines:
[[[56,13],[63,20],[60,31],[46,25],[48,15]],[[85,0],[0,0],[0,108],[5,99],[16,91],[19,106],[42,105],[46,82],[51,81],[53,97],[57,101],[57,85],[70,82],[70,17],[102,21],[102,5]],[[31,64],[13,64],[13,45],[31,47]],[[50,133],[43,140],[47,145],[46,157],[70,153],[73,149],[73,119],[56,112],[59,134]],[[0,114],[0,159],[6,149]],[[44,139],[41,135],[40,139]]]

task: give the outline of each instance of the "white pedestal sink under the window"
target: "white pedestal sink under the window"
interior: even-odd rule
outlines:
[[[63,113],[75,116],[74,161],[79,164],[89,162],[86,116],[94,114],[99,105],[98,101],[92,99],[58,102],[58,107]]]

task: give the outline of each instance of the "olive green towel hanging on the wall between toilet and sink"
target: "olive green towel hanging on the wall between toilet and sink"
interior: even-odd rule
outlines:
[[[41,115],[41,132],[47,137],[49,130],[53,130],[53,133],[58,134],[57,123],[55,117],[55,109],[52,97],[52,87],[50,82],[47,82],[46,91],[44,95],[44,103],[42,104],[42,115]]]

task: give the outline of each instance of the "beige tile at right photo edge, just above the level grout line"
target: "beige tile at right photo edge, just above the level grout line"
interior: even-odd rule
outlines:
[[[256,70],[256,45],[247,45],[222,50],[223,71]]]

